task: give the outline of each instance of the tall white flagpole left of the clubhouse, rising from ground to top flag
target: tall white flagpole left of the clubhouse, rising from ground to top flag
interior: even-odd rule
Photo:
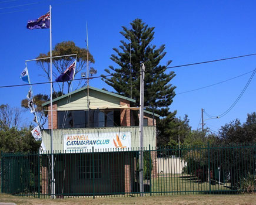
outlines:
[[[51,72],[51,197],[54,199],[54,142],[53,142],[53,117],[52,117],[52,6],[49,5],[50,9],[50,72]]]

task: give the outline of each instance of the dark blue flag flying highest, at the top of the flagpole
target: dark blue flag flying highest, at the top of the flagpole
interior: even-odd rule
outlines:
[[[49,29],[50,28],[50,12],[40,16],[36,20],[28,20],[27,29]]]

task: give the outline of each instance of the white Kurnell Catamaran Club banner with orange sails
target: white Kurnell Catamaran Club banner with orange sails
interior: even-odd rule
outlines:
[[[64,150],[128,149],[131,148],[131,132],[106,132],[64,135]],[[98,152],[98,150],[97,150]]]

